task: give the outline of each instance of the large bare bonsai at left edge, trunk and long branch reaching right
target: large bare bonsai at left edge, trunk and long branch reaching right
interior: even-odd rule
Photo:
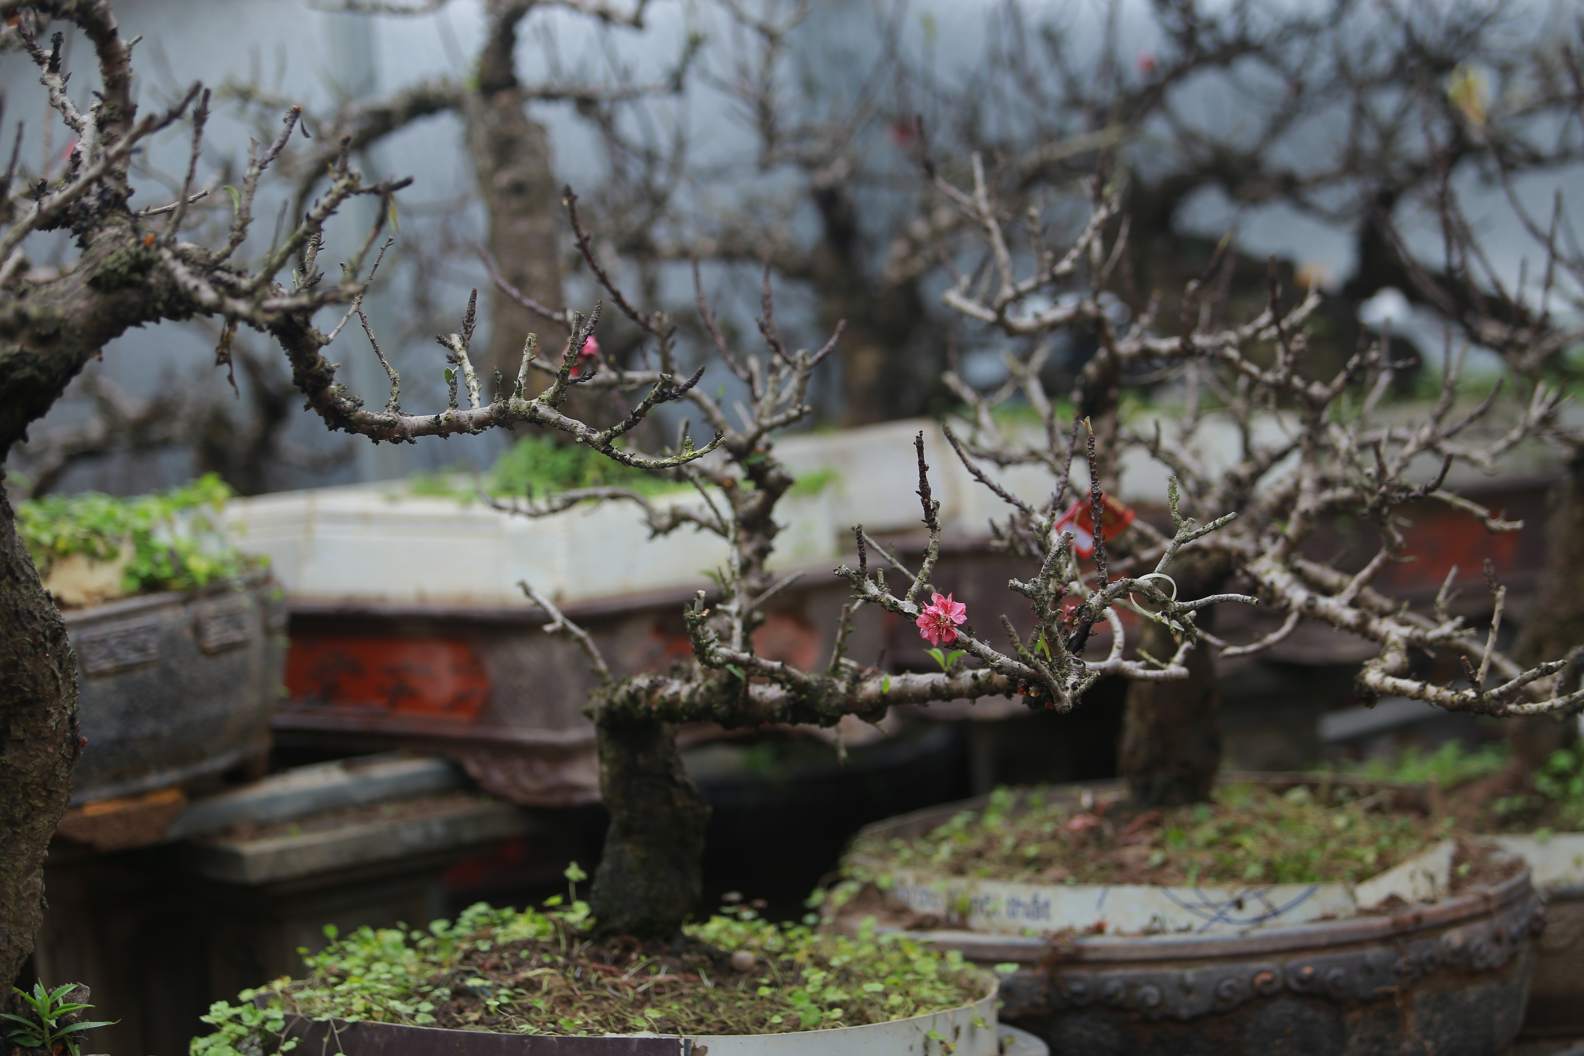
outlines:
[[[67,92],[63,33],[70,24],[92,46],[98,90],[79,108]],[[537,396],[521,383],[497,385],[480,397],[472,366],[474,307],[463,328],[444,336],[448,404],[431,413],[401,405],[401,378],[385,361],[361,312],[363,294],[379,266],[391,198],[407,180],[367,182],[352,165],[352,142],[342,138],[329,161],[329,179],[301,215],[284,225],[268,245],[252,239],[260,180],[287,142],[298,135],[299,108],[290,108],[279,135],[252,144],[231,201],[230,222],[214,237],[195,236],[190,220],[203,212],[200,184],[209,92],[198,84],[173,104],[143,114],[133,90],[133,43],[117,28],[109,0],[5,0],[0,3],[0,47],[21,51],[35,63],[49,103],[73,146],[60,169],[27,171],[16,149],[0,174],[0,454],[25,437],[84,364],[133,326],[193,318],[215,320],[222,339],[217,361],[231,355],[241,326],[280,347],[306,405],[329,429],[374,442],[412,443],[485,429],[537,424],[559,431],[627,465],[662,469],[699,458],[702,448],[651,459],[619,446],[659,404],[676,399],[694,382],[656,372],[642,399],[616,424],[597,427],[562,412],[599,309],[572,317],[572,340],[554,356],[554,382]],[[163,130],[185,123],[190,160],[181,193],[169,203],[135,204],[135,155]],[[355,198],[374,198],[379,218],[347,247],[341,277],[320,268],[326,223]],[[211,225],[212,226],[212,225]],[[70,233],[74,255],[59,269],[35,268],[36,237]],[[195,241],[196,239],[196,241]],[[333,312],[334,326],[320,328]],[[339,317],[339,318],[337,318]],[[353,318],[367,332],[372,355],[386,367],[390,397],[367,407],[337,380],[337,366],[323,355]],[[534,356],[532,344],[524,361]],[[526,377],[526,366],[518,382]],[[54,600],[16,529],[11,505],[0,497],[0,980],[13,980],[33,948],[43,912],[43,860],[49,838],[67,809],[71,768],[87,747],[78,733],[76,660]],[[92,747],[87,747],[92,750]]]

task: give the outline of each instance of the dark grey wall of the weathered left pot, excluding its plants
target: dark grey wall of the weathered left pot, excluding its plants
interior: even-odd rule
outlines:
[[[71,803],[215,774],[269,750],[285,605],[268,578],[67,611],[78,655]]]

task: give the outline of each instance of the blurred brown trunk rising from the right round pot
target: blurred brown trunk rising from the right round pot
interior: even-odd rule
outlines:
[[[1218,594],[1226,581],[1221,568],[1185,556],[1169,572],[1182,600]],[[1209,627],[1202,610],[1199,624]],[[1161,624],[1142,621],[1137,632],[1142,652],[1169,657],[1177,649]],[[1133,682],[1128,686],[1121,724],[1118,771],[1128,793],[1142,806],[1178,806],[1210,798],[1215,774],[1221,769],[1221,693],[1215,684],[1215,657],[1199,646],[1188,654],[1188,678],[1175,682]]]

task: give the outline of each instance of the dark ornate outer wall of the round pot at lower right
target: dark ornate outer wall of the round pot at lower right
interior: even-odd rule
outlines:
[[[919,834],[952,812],[870,831]],[[1101,896],[1128,898],[1128,888],[1109,891]],[[1063,1056],[1483,1056],[1519,1032],[1546,921],[1527,871],[1438,901],[1304,923],[1283,923],[1248,899],[1232,907],[1255,917],[1239,926],[1223,902],[1188,906],[1207,910],[1201,926],[1164,934],[1083,936],[1033,920],[1015,929],[1022,934],[916,934],[980,964],[1017,964],[1001,983],[1001,1018]],[[971,902],[957,909],[961,923],[984,917]],[[1106,906],[1106,917],[1148,912]]]

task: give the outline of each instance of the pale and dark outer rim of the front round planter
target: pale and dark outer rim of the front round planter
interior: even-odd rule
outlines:
[[[293,1018],[298,1051],[344,1056],[998,1056],[996,991],[969,1005],[908,1020],[792,1034],[608,1034],[564,1037],[442,1031],[396,1023],[309,1023]],[[1026,1042],[1023,1043],[1030,1056]]]

